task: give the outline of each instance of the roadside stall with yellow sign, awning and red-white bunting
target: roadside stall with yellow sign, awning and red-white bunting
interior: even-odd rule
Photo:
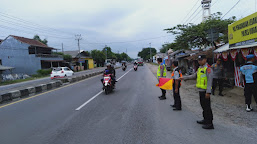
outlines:
[[[249,15],[228,26],[229,44],[215,51],[216,58],[229,62],[226,67],[233,70],[235,86],[242,87],[239,80],[240,66],[246,62],[248,54],[254,54],[257,59],[257,13]],[[243,25],[243,26],[242,26]]]

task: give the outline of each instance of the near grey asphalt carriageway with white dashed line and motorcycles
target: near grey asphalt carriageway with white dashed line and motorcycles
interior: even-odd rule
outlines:
[[[173,111],[171,97],[158,100],[157,79],[146,65],[130,68],[117,70],[121,78],[110,95],[101,92],[101,76],[95,76],[0,105],[0,144],[256,143],[256,133],[239,126],[214,121],[215,130],[202,129],[186,106]]]

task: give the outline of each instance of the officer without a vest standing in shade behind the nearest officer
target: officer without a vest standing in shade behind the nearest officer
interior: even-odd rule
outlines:
[[[221,64],[221,59],[218,59],[212,66],[213,70],[213,83],[212,83],[212,94],[214,95],[217,83],[219,84],[219,96],[224,96],[223,91],[223,65]]]

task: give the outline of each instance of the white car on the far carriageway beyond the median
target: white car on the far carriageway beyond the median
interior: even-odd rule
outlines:
[[[51,79],[64,78],[67,76],[72,76],[73,74],[74,72],[68,67],[57,67],[57,68],[53,68],[51,72]]]

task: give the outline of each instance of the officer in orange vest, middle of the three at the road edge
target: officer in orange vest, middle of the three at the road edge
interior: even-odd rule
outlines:
[[[181,98],[179,93],[179,88],[181,84],[181,80],[179,80],[180,77],[182,77],[182,73],[179,70],[178,67],[178,61],[173,61],[172,63],[173,72],[171,74],[171,78],[173,79],[173,97],[174,97],[174,105],[171,105],[173,107],[173,110],[182,110],[181,109]]]

